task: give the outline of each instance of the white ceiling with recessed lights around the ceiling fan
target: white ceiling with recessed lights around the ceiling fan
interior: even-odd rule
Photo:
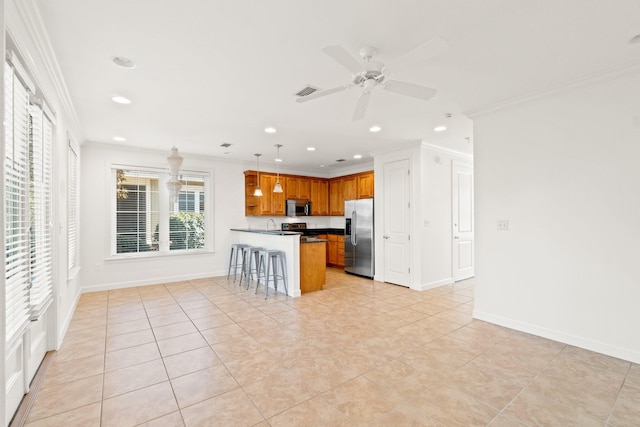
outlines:
[[[167,153],[175,144],[185,162],[264,153],[272,163],[282,144],[283,168],[328,173],[336,159],[357,165],[410,141],[471,153],[465,114],[640,62],[640,44],[629,43],[640,33],[638,0],[35,1],[86,139],[123,136]],[[448,48],[392,76],[438,89],[430,101],[377,88],[359,122],[356,89],[295,102],[307,84],[350,82],[325,46],[357,56],[371,45],[393,72],[394,60],[434,37]],[[446,113],[449,130],[434,133]],[[370,133],[374,124],[382,132]]]

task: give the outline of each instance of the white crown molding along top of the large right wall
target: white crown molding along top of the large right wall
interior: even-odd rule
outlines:
[[[468,110],[464,114],[470,119],[477,119],[487,114],[496,113],[506,108],[515,107],[520,104],[524,104],[536,99],[546,98],[562,92],[566,92],[573,89],[579,89],[593,84],[615,80],[621,77],[625,77],[632,74],[640,73],[640,62],[632,62],[620,67],[611,68],[596,73],[591,73],[587,76],[565,81],[563,83],[551,86],[547,89],[537,92],[531,92],[524,95],[519,95],[513,98],[509,98],[503,101],[498,101],[493,104],[488,104],[476,109]]]

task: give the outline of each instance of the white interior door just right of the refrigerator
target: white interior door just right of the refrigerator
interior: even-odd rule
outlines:
[[[384,164],[384,281],[409,286],[411,234],[409,160]]]

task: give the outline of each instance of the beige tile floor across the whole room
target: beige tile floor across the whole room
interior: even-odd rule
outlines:
[[[330,269],[301,298],[225,277],[82,295],[29,426],[638,426],[640,366]]]

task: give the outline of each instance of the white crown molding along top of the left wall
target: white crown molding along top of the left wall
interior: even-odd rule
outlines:
[[[68,120],[68,126],[72,129],[71,133],[81,141],[80,143],[82,143],[86,140],[86,135],[82,129],[80,120],[78,119],[73,102],[71,101],[69,89],[67,88],[67,84],[55,56],[51,40],[49,39],[49,35],[42,21],[40,10],[34,0],[13,0],[13,2],[20,14],[20,19],[25,26],[27,34],[33,40],[37,53],[42,59],[42,63],[45,67],[44,71],[47,73],[53,84],[53,89],[56,91],[58,101],[60,102]],[[20,23],[14,24],[19,25]],[[18,44],[18,42],[19,41],[16,40],[16,44]],[[18,49],[20,49],[20,46],[18,46]],[[26,56],[29,57],[29,55]],[[37,68],[35,64],[32,64],[32,66]],[[30,71],[32,71],[35,74],[36,79],[38,79],[38,70],[30,69]]]

